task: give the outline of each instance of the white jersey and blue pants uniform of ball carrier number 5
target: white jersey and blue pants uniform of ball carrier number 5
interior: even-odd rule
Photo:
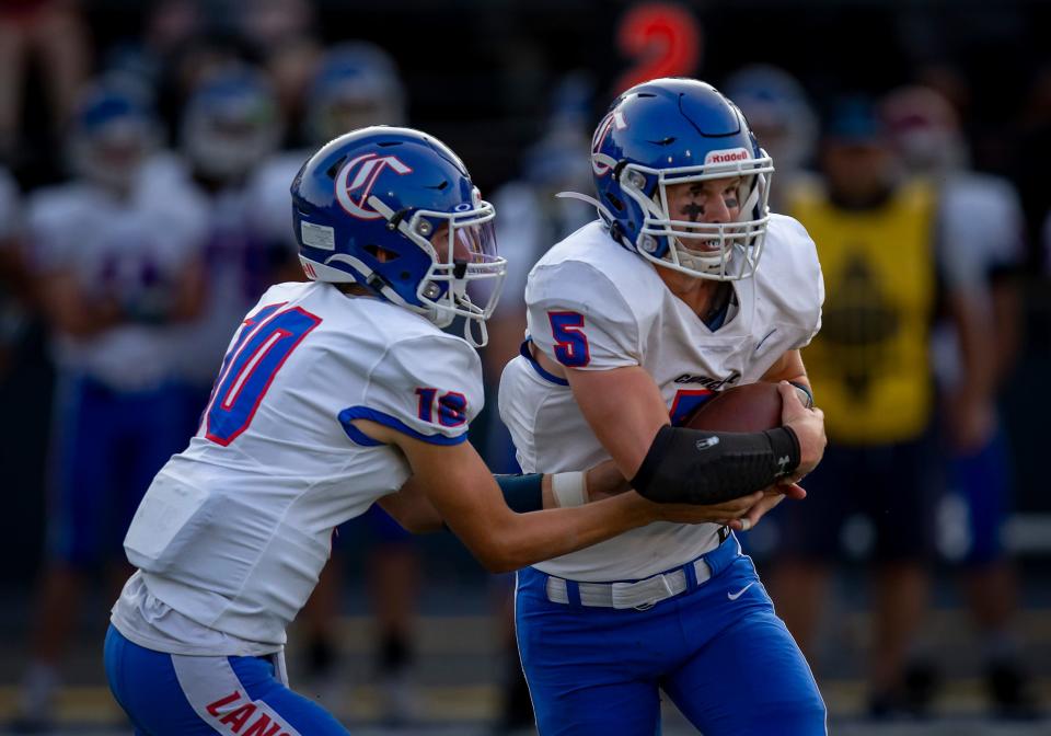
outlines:
[[[579,370],[645,368],[677,422],[721,388],[759,380],[820,327],[821,271],[797,221],[772,216],[762,266],[732,284],[712,330],[592,222],[530,274],[529,341]],[[499,406],[524,472],[609,458],[568,382],[528,345],[504,372]],[[651,734],[658,685],[708,736],[767,734],[774,722],[824,731],[802,655],[751,560],[716,525],[651,524],[519,571],[517,624],[544,736]]]

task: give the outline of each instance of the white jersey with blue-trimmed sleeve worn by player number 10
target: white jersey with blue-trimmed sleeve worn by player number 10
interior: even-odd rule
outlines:
[[[482,403],[481,361],[461,337],[331,284],[272,287],[231,342],[200,430],[136,513],[125,551],[140,572],[114,609],[117,629],[174,651],[171,631],[150,625],[145,586],[183,620],[175,639],[196,624],[201,641],[221,632],[280,647],[333,529],[411,474],[351,422],[452,445]],[[193,653],[195,642],[175,644]]]

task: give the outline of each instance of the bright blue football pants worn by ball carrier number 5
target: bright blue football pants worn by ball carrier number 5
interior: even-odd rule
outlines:
[[[751,559],[731,536],[705,560],[708,580],[688,574],[686,591],[648,610],[553,602],[547,575],[519,571],[519,652],[542,736],[654,736],[660,690],[705,736],[827,733],[810,668]]]

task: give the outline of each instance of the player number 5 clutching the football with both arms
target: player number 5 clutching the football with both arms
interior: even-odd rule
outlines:
[[[500,384],[518,459],[557,472],[612,458],[648,497],[723,497],[747,474],[769,488],[734,521],[747,529],[785,491],[798,497],[777,483],[824,447],[821,413],[798,395],[799,348],[821,322],[813,242],[770,214],[772,161],[704,82],[624,92],[591,165],[599,219],[530,274],[528,337]],[[744,441],[675,426],[760,380],[781,382],[785,411],[817,430]],[[725,524],[654,524],[520,570],[516,611],[544,736],[655,733],[661,689],[708,736],[825,733],[810,669]]]

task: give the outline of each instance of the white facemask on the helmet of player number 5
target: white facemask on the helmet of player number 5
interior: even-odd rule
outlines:
[[[770,222],[774,171],[770,157],[762,153],[759,159],[673,169],[624,164],[616,172],[621,188],[639,206],[644,218],[635,250],[659,266],[696,278],[726,281],[752,276]],[[741,180],[735,221],[694,222],[675,219],[669,211],[669,186],[734,176]]]

